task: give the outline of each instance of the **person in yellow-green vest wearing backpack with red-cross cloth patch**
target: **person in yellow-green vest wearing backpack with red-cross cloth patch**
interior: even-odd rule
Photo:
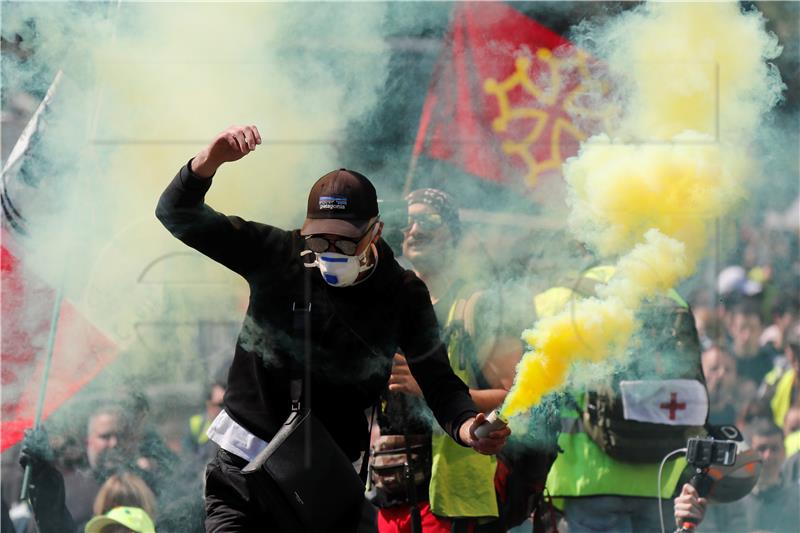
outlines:
[[[582,275],[573,276],[569,281],[565,280],[563,286],[553,287],[538,294],[534,297],[537,316],[551,316],[568,308],[576,298],[594,296],[595,287],[609,281],[613,274],[614,269],[611,267],[595,267]],[[687,425],[702,426],[708,416],[708,396],[700,367],[699,339],[686,302],[675,291],[670,291],[662,300],[667,300],[667,297],[668,302],[660,302],[664,311],[660,310],[661,307],[654,305],[651,312],[656,316],[663,313],[664,318],[669,318],[669,320],[657,320],[656,322],[665,322],[666,326],[657,326],[653,330],[655,333],[651,332],[651,334],[658,333],[659,328],[667,329],[670,323],[674,324],[673,319],[669,316],[671,311],[666,311],[666,309],[674,307],[679,311],[686,312],[686,316],[683,316],[682,320],[689,323],[689,330],[693,332],[694,338],[688,339],[687,349],[681,350],[686,352],[686,356],[681,356],[664,367],[678,367],[679,364],[685,366],[687,368],[683,368],[680,373],[684,374],[684,377],[688,375],[689,379],[662,380],[659,377],[653,379],[653,374],[650,372],[646,373],[646,375],[649,374],[648,377],[642,378],[632,375],[627,368],[615,375],[614,378],[617,382],[630,384],[629,387],[636,384],[643,384],[644,387],[647,387],[646,394],[642,394],[640,397],[652,397],[656,401],[655,408],[649,410],[653,416],[663,417],[664,422],[667,423],[683,423],[681,422],[682,418],[686,418],[687,421],[691,419],[690,424]],[[636,339],[634,339],[633,345],[636,345]],[[658,359],[666,359],[662,357],[663,354],[659,353],[660,349],[652,353],[645,353],[644,346],[639,348],[640,353],[634,354],[634,357],[638,355],[639,360],[645,360],[648,364],[654,363]],[[681,361],[680,363],[676,362],[678,359]],[[658,365],[658,363],[655,364]],[[626,379],[630,381],[626,382]],[[598,391],[602,390],[602,387],[598,389]],[[624,400],[626,390],[628,389],[620,387],[620,391],[616,394],[622,396]],[[598,423],[600,417],[610,418],[612,416],[608,413],[601,415],[600,411],[603,409],[610,411],[614,404],[601,403],[602,393],[598,391],[575,390],[568,394],[568,399],[562,408],[562,428],[558,438],[561,453],[558,454],[548,474],[547,490],[553,497],[556,507],[564,513],[564,520],[570,533],[658,531],[660,530],[657,499],[659,495],[657,482],[659,460],[650,460],[646,456],[633,457],[633,455],[645,451],[646,448],[656,445],[658,437],[655,433],[645,432],[641,438],[650,439],[653,442],[642,440],[641,445],[635,438],[626,437],[627,447],[615,449],[614,457],[612,457],[610,455],[612,447],[608,445],[608,442],[602,447],[598,444],[597,440],[600,440],[598,434],[602,434],[602,432],[599,432],[597,428],[603,425],[603,421]],[[663,398],[661,398],[662,395]],[[614,396],[609,397],[614,398]],[[631,398],[633,397],[631,396]],[[690,398],[698,398],[698,400],[692,401]],[[631,408],[631,413],[633,413],[633,404],[627,405],[627,408]],[[644,411],[643,408],[642,412]],[[619,418],[622,416],[619,415]],[[633,422],[631,425],[639,423],[634,420],[644,421],[641,418],[629,421],[627,420],[628,415],[625,415],[624,418],[618,422],[620,425],[617,427],[622,428],[624,424],[631,424],[631,422]],[[655,420],[646,422],[656,423]],[[659,426],[661,424],[663,422],[659,423]],[[621,434],[620,430],[618,435]],[[622,439],[620,438],[618,444],[621,446],[621,443]],[[685,446],[685,439],[683,439],[682,446]],[[672,448],[679,447],[681,447],[679,443],[672,446]],[[628,458],[630,460],[626,460]],[[672,515],[669,498],[672,497],[685,466],[686,462],[683,458],[673,458],[667,461],[664,467],[660,486],[662,505],[665,509],[664,516]]]

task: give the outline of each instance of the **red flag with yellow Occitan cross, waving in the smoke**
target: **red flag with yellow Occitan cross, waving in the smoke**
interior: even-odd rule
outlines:
[[[496,2],[459,4],[422,110],[414,156],[503,184],[535,185],[611,117],[596,64]]]

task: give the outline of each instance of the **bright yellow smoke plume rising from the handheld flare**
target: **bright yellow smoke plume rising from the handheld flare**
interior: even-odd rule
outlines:
[[[562,387],[575,362],[624,353],[642,302],[691,275],[708,223],[744,196],[750,142],[782,84],[765,60],[780,53],[757,12],[734,3],[657,3],[593,35],[626,113],[614,137],[595,136],[568,161],[570,228],[619,257],[597,298],[539,320],[504,414]]]

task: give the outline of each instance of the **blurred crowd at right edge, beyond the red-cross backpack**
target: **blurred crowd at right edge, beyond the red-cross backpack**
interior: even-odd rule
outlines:
[[[717,276],[716,301],[695,294],[709,422],[740,428],[762,460],[756,486],[736,503],[708,502],[683,487],[675,516],[702,520],[700,531],[793,531],[800,524],[798,230],[775,227],[775,218],[743,227],[734,264]]]

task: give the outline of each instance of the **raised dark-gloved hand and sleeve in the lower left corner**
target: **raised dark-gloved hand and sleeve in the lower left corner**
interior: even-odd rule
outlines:
[[[31,467],[28,495],[40,533],[71,532],[76,527],[65,503],[64,477],[53,466],[54,459],[43,427],[25,432],[19,463]]]

